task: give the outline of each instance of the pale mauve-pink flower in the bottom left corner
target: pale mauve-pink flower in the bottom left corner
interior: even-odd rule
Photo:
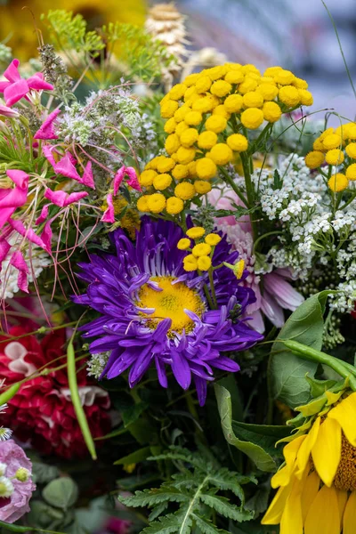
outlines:
[[[16,478],[15,473],[20,468],[28,470],[28,475],[32,472],[32,464],[24,451],[13,440],[0,442],[0,463],[6,465],[4,476],[12,479],[13,492],[8,498],[0,498],[0,520],[4,522],[15,522],[23,514],[29,512],[28,501],[32,492],[36,490],[35,484],[28,476],[28,481],[21,482]]]

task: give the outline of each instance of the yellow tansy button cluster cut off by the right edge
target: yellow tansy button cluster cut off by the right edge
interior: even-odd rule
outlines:
[[[325,168],[329,169],[330,190],[338,193],[348,187],[350,180],[356,180],[356,123],[328,128],[314,141],[312,148],[305,156],[305,165],[310,169],[328,165]]]

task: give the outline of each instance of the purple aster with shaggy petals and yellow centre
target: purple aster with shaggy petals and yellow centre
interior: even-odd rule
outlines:
[[[102,376],[114,378],[130,368],[133,387],[154,364],[159,384],[167,387],[166,369],[171,368],[184,390],[191,380],[203,405],[206,384],[214,380],[214,368],[238,371],[227,352],[243,351],[262,336],[239,320],[248,304],[255,302],[252,289],[244,287],[233,271],[214,271],[217,310],[206,301],[207,273],[183,270],[186,253],[177,243],[183,232],[174,223],[142,218],[133,243],[118,229],[111,239],[115,255],[92,255],[80,264],[79,275],[88,282],[85,295],[74,297],[101,313],[82,327],[85,337],[95,337],[90,352],[110,352]],[[239,253],[230,251],[224,236],[215,247],[213,265],[236,263]]]

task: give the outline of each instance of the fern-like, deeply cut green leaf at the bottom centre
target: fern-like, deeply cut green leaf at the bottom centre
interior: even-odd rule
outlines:
[[[221,468],[215,462],[206,461],[200,453],[172,446],[164,454],[150,457],[157,462],[174,462],[179,469],[160,488],[136,491],[132,497],[119,497],[125,506],[152,508],[150,526],[142,534],[189,534],[200,530],[204,534],[226,532],[219,530],[222,518],[233,522],[245,522],[253,518],[253,512],[245,508],[245,494],[242,488],[247,482],[255,482],[253,477]],[[222,495],[230,492],[240,500],[240,506]],[[178,510],[172,513],[172,505]]]

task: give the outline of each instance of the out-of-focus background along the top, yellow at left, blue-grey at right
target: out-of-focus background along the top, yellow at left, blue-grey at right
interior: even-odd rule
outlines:
[[[143,25],[154,2],[144,0],[0,0],[0,40],[22,61],[36,55],[35,26],[49,8],[81,12],[91,28],[112,20]],[[229,61],[259,68],[281,64],[307,78],[318,109],[355,116],[355,97],[336,33],[321,0],[177,0],[191,50],[212,47]],[[26,5],[26,8],[23,6]],[[352,79],[356,80],[356,0],[327,0]],[[45,34],[44,34],[45,36]],[[223,55],[221,56],[223,59]]]

